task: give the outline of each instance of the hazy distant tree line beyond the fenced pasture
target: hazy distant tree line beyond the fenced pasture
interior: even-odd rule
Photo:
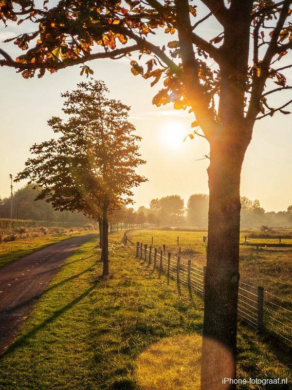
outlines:
[[[153,226],[193,226],[204,228],[208,225],[209,195],[193,194],[186,207],[179,195],[152,199],[149,208],[139,207],[139,218]],[[258,199],[241,197],[241,227],[256,228],[262,225],[292,227],[292,205],[287,211],[265,212]]]

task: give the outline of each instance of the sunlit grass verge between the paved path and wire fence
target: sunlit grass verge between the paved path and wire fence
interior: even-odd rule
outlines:
[[[1,357],[0,389],[198,389],[203,302],[140,264],[121,235],[106,280],[95,240],[67,259]],[[239,327],[240,377],[289,377],[289,352]]]

